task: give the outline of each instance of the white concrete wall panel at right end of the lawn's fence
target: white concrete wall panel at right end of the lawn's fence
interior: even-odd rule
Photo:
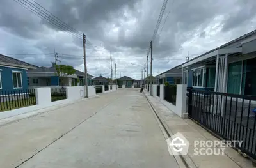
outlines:
[[[51,88],[36,88],[36,104],[47,105],[52,102]]]

